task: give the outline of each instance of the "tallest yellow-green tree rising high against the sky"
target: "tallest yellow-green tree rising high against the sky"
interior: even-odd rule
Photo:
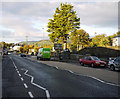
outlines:
[[[53,19],[49,21],[47,31],[53,43],[56,41],[65,43],[66,35],[69,36],[69,33],[75,31],[80,25],[80,18],[77,18],[73,6],[67,3],[61,3],[60,8],[56,8]]]

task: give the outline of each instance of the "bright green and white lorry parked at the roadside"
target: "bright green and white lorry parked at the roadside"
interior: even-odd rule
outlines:
[[[50,60],[51,51],[50,48],[40,48],[38,50],[37,59],[48,59]]]

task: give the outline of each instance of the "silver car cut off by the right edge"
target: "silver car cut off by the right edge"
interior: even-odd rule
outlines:
[[[108,68],[110,70],[120,70],[120,57],[117,58],[109,58]]]

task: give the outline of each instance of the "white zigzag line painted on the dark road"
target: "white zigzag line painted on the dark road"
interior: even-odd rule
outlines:
[[[49,91],[48,91],[46,88],[44,88],[44,87],[42,87],[42,86],[40,86],[40,85],[34,83],[34,82],[33,82],[34,77],[31,76],[31,75],[29,75],[29,74],[27,74],[28,70],[26,70],[26,69],[24,69],[24,70],[25,70],[25,73],[24,73],[24,74],[27,75],[27,76],[29,76],[29,77],[31,77],[31,84],[34,85],[34,86],[36,86],[36,87],[38,87],[38,88],[40,88],[40,89],[42,89],[42,90],[44,90],[45,93],[46,93],[47,99],[50,99],[50,93],[49,93]]]

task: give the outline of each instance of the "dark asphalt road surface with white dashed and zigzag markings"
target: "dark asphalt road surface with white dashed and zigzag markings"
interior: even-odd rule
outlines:
[[[2,61],[2,97],[10,97],[10,99],[114,97],[117,99],[119,87],[17,55],[6,55]]]

